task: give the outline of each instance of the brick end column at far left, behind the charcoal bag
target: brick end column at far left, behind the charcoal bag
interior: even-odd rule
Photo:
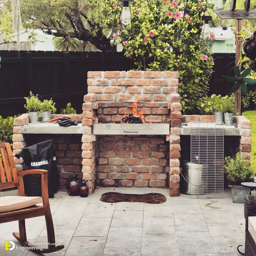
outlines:
[[[19,151],[26,147],[26,142],[22,134],[23,126],[29,123],[29,114],[22,114],[21,116],[14,119],[13,127],[13,155],[16,155]],[[23,170],[22,163],[24,162],[22,158],[18,159],[14,157],[14,162],[17,171]]]

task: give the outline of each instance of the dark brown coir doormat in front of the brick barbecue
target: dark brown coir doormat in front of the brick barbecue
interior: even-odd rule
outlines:
[[[100,200],[106,203],[117,203],[117,202],[163,203],[166,201],[166,197],[160,193],[123,194],[118,192],[107,192],[101,195]]]

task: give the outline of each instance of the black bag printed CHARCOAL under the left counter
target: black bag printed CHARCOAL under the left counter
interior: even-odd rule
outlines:
[[[48,194],[54,197],[59,186],[58,167],[56,165],[53,140],[43,141],[25,147],[15,157],[22,157],[25,163],[24,170],[48,170]],[[24,189],[28,197],[41,197],[41,175],[27,174],[23,176]]]

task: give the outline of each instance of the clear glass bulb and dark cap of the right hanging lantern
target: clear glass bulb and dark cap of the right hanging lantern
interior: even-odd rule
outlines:
[[[215,40],[212,20],[213,20],[213,17],[211,16],[206,16],[206,15],[202,16],[203,27],[198,39],[200,45],[205,45],[210,47]]]

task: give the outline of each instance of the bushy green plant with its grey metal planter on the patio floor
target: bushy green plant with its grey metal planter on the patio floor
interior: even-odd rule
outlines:
[[[229,173],[231,182],[231,191],[233,203],[243,203],[246,195],[250,194],[250,188],[242,187],[242,182],[250,182],[253,179],[253,169],[245,159],[241,158],[239,153],[235,158],[226,157],[224,166]]]

